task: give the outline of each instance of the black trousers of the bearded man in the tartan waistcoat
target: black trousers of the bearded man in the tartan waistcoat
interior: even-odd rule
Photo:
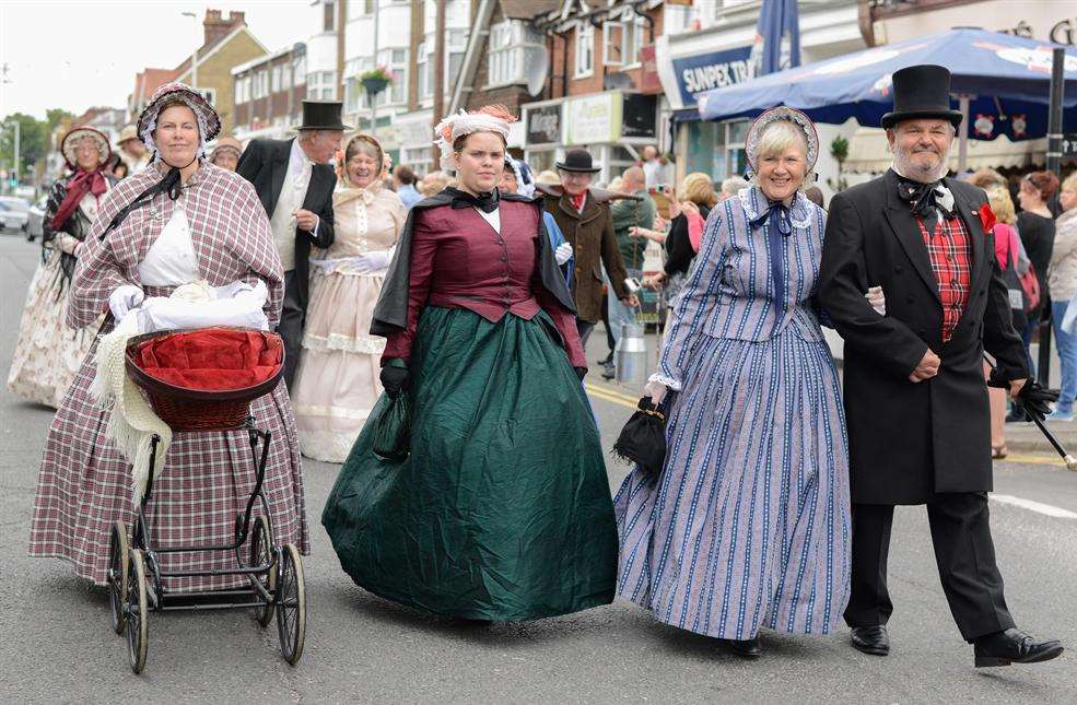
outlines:
[[[935,495],[927,520],[943,591],[961,636],[978,636],[1014,626],[1003,597],[1003,577],[995,564],[987,494]],[[886,624],[893,612],[887,590],[887,556],[893,505],[853,505],[852,595],[845,609],[850,626]]]

